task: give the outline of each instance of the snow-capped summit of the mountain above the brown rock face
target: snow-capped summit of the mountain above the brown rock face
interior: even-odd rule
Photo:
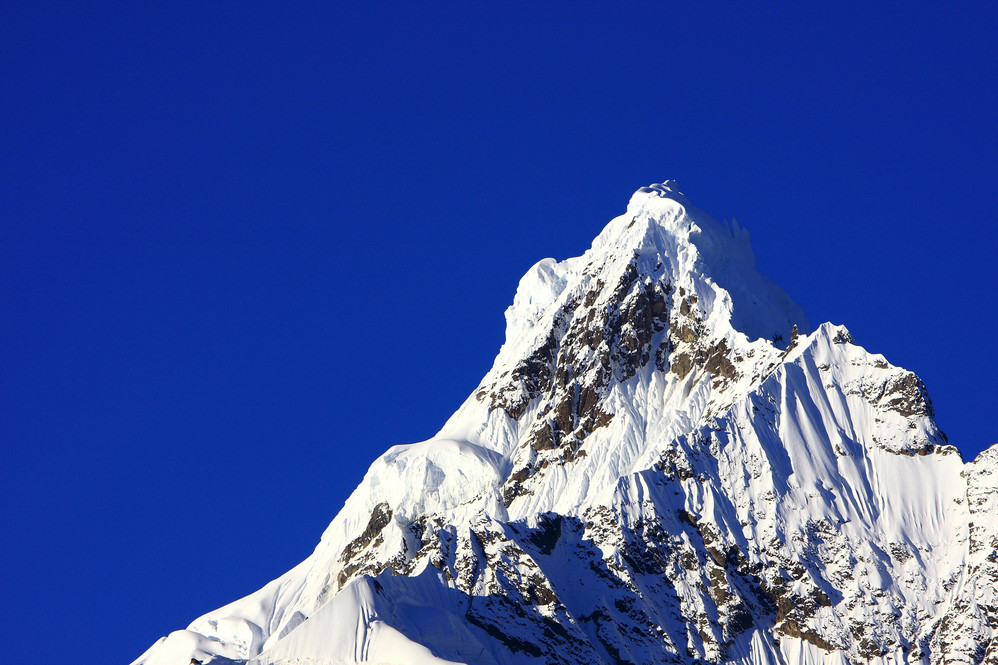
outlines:
[[[625,275],[693,294],[720,336],[730,329],[773,340],[788,338],[794,326],[811,330],[790,296],[756,271],[748,231],[717,222],[667,180],[637,190],[582,256],[543,259],[527,271],[506,312],[504,350],[533,346],[544,334],[536,324],[569,303],[626,295],[598,288]]]

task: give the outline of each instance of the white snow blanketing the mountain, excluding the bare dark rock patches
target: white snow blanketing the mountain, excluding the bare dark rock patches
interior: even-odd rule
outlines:
[[[628,290],[615,291],[617,284]],[[545,395],[526,400],[516,418],[482,398],[551,339],[566,347],[573,322],[588,320],[586,308],[611,311],[619,299],[653,287],[672,299],[673,317],[692,307],[699,318],[694,340],[670,338],[670,323],[650,348],[671,340],[673,357],[726,349],[732,376],[719,381],[698,369],[679,378],[649,360],[601,388],[601,408],[612,419],[580,444],[584,455],[567,462],[530,444],[535,424],[549,417]],[[213,655],[260,665],[535,662],[529,649],[511,652],[466,617],[497,589],[543,581],[567,608],[546,606],[543,616],[567,626],[573,639],[599,642],[595,624],[573,617],[571,608],[591,608],[598,594],[589,589],[602,582],[592,577],[593,562],[579,572],[569,547],[591,552],[601,565],[617,562],[625,586],[638,589],[659,625],[671,625],[676,613],[717,614],[706,606],[715,601],[704,595],[711,582],[702,570],[676,570],[670,593],[628,572],[621,529],[662,523],[682,547],[705,547],[697,539],[706,543],[708,531],[693,534],[683,514],[760,570],[814,562],[790,592],[834,597],[813,619],[829,643],[853,640],[850,622],[877,626],[889,644],[928,640],[929,619],[951,607],[966,616],[965,634],[986,637],[984,615],[964,608],[995,605],[998,564],[988,554],[998,532],[998,449],[964,464],[920,406],[909,373],[848,341],[842,326],[811,332],[800,308],[755,270],[748,232],[737,222],[719,224],[674,181],[643,187],[582,256],[535,264],[506,322],[506,340],[480,389],[434,438],[395,446],[376,460],[306,561],[171,633],[135,665],[187,665]],[[575,359],[578,371],[585,360]],[[593,372],[579,380],[594,380]],[[504,500],[503,488],[524,470],[533,474],[522,481],[527,491]],[[382,525],[373,515],[384,506]],[[522,541],[519,529],[543,530],[551,515],[581,525],[583,535],[559,526],[564,533],[553,551],[513,547]],[[601,524],[593,515],[612,517]],[[424,542],[431,535],[436,552]],[[474,563],[481,560],[500,562],[502,570]],[[459,578],[470,580],[460,593]],[[727,659],[849,662],[846,652],[804,639],[784,635],[777,645],[767,620],[738,635]],[[507,628],[516,640],[553,639]],[[687,639],[672,647],[720,657],[702,636]],[[978,638],[967,639],[970,649]],[[638,661],[658,657],[643,648],[627,646]],[[875,660],[906,662],[906,653],[888,650]]]

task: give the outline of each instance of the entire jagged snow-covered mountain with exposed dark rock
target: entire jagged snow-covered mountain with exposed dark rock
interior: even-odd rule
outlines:
[[[308,559],[135,663],[998,664],[998,446],[965,463],[737,224],[643,187],[506,322]]]

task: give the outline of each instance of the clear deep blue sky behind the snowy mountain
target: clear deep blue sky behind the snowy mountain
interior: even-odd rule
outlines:
[[[0,5],[7,661],[307,556],[666,178],[998,440],[994,3],[148,4]]]

